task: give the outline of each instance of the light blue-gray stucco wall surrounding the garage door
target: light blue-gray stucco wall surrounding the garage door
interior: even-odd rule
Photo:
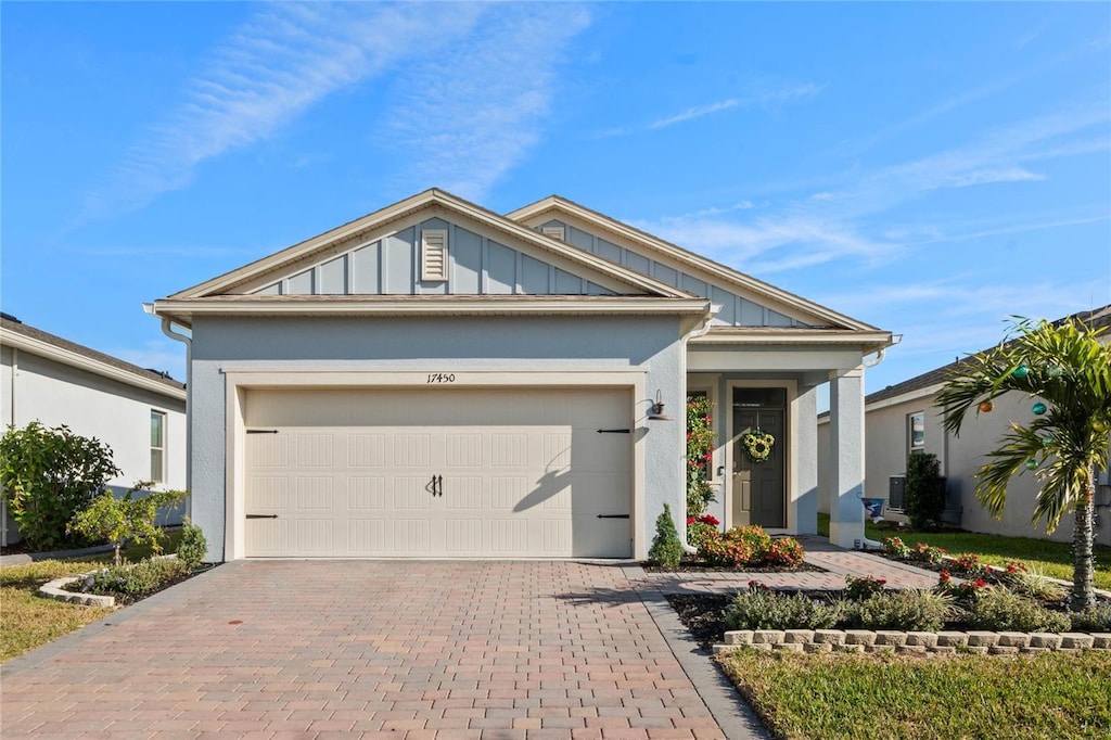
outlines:
[[[684,388],[675,318],[197,318],[191,358],[192,517],[204,530],[211,560],[224,559],[228,419],[222,371],[613,368],[643,369],[651,397],[659,390],[678,401]],[[644,409],[641,403],[633,416],[642,419]],[[681,523],[685,429],[680,420],[630,424],[645,443],[644,518],[632,524],[651,541],[665,501]]]

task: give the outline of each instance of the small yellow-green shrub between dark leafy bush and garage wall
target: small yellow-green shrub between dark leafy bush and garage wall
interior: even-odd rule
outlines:
[[[120,564],[120,549],[128,541],[149,542],[153,552],[160,552],[162,530],[154,526],[161,507],[174,504],[188,496],[184,491],[152,491],[151,481],[140,481],[126,496],[117,498],[104,491],[79,511],[70,529],[93,539],[108,540],[116,548],[116,564]],[[136,497],[137,493],[141,496]]]

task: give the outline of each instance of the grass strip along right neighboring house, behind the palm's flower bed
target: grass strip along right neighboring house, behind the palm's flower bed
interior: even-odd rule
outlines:
[[[829,537],[829,514],[818,514],[818,533]],[[899,532],[864,523],[864,537],[882,542],[885,537],[899,537],[910,547],[925,542],[943,548],[948,554],[972,552],[992,566],[1005,566],[1018,560],[1027,568],[1063,581],[1072,580],[1072,543],[1040,540],[1032,537],[1001,537],[974,532]],[[1095,588],[1111,591],[1111,548],[1095,546]]]

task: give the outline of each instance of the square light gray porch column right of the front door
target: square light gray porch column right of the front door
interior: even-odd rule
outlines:
[[[864,369],[830,374],[830,543],[864,541]]]

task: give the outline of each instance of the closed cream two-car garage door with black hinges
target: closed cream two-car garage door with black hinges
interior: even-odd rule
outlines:
[[[249,391],[246,553],[630,557],[630,418],[613,390]]]

